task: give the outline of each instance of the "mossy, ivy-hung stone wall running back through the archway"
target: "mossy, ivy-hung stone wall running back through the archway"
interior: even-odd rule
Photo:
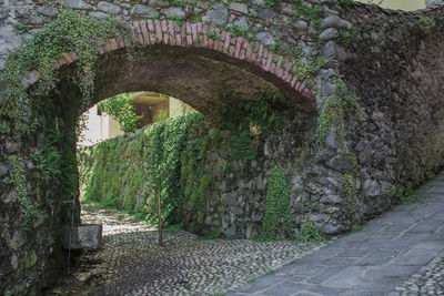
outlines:
[[[164,224],[181,224],[202,235],[259,238],[266,208],[273,212],[273,205],[264,203],[268,183],[273,167],[282,165],[285,173],[279,182],[287,187],[290,224],[286,233],[272,238],[293,237],[300,220],[292,216],[297,208],[290,208],[290,196],[296,198],[302,184],[291,195],[287,184],[307,167],[306,143],[315,121],[303,115],[292,121],[286,112],[271,108],[274,100],[283,96],[262,94],[239,105],[236,114],[223,111],[216,127],[193,113],[79,151],[83,198],[157,225],[160,188]],[[289,162],[293,159],[297,161]]]

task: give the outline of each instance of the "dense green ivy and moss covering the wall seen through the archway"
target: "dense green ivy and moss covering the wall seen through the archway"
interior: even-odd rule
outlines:
[[[190,113],[149,125],[133,140],[110,140],[87,149],[79,154],[84,198],[141,213],[157,225],[161,188],[164,226],[180,224],[184,208],[199,204],[212,184],[203,166],[206,133],[202,115]]]

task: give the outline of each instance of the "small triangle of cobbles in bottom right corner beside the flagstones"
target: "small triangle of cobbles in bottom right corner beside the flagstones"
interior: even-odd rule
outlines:
[[[390,295],[444,295],[444,252],[420,268]]]

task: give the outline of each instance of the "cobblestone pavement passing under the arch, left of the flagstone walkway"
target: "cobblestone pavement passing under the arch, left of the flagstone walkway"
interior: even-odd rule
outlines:
[[[103,223],[103,244],[97,252],[83,252],[64,287],[59,287],[61,295],[213,295],[321,247],[200,239],[184,231],[165,233],[164,246],[159,247],[155,229],[92,205],[83,205],[82,223]]]

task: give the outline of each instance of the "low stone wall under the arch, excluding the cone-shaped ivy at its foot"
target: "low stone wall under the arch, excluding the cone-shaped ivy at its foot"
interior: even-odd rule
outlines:
[[[172,124],[158,123],[167,126]],[[310,212],[301,198],[304,192],[303,176],[311,170],[313,161],[314,151],[310,149],[310,141],[315,134],[315,126],[313,119],[301,116],[289,122],[283,131],[273,131],[278,134],[252,136],[250,149],[256,156],[235,160],[233,142],[239,135],[230,130],[208,126],[198,116],[190,124],[186,133],[191,135],[185,140],[196,145],[195,150],[186,150],[188,143],[184,143],[176,153],[170,146],[172,142],[162,144],[163,154],[160,157],[165,160],[162,163],[169,163],[170,157],[176,157],[180,163],[179,175],[168,177],[174,177],[180,183],[173,194],[183,196],[181,208],[174,212],[174,216],[167,214],[164,218],[170,223],[181,223],[186,229],[202,235],[215,231],[225,236],[259,238],[265,213],[266,185],[273,167],[280,165],[284,169],[286,182],[291,184],[290,205],[294,236],[297,236],[301,222]],[[199,133],[193,132],[195,130]],[[165,141],[173,139],[171,130],[169,132],[168,127],[163,127],[163,131]],[[87,200],[140,213],[152,217],[155,223],[157,191],[153,182],[157,182],[155,174],[159,171],[153,167],[152,153],[157,153],[152,151],[154,136],[153,126],[147,126],[134,134],[125,134],[81,151],[80,172]],[[204,152],[202,155],[201,150]],[[201,174],[192,171],[193,167],[200,170],[199,166],[192,166],[194,162],[201,163]],[[206,180],[208,184],[202,184],[202,180]],[[163,208],[176,203],[171,200],[170,184],[165,180],[162,182]]]

